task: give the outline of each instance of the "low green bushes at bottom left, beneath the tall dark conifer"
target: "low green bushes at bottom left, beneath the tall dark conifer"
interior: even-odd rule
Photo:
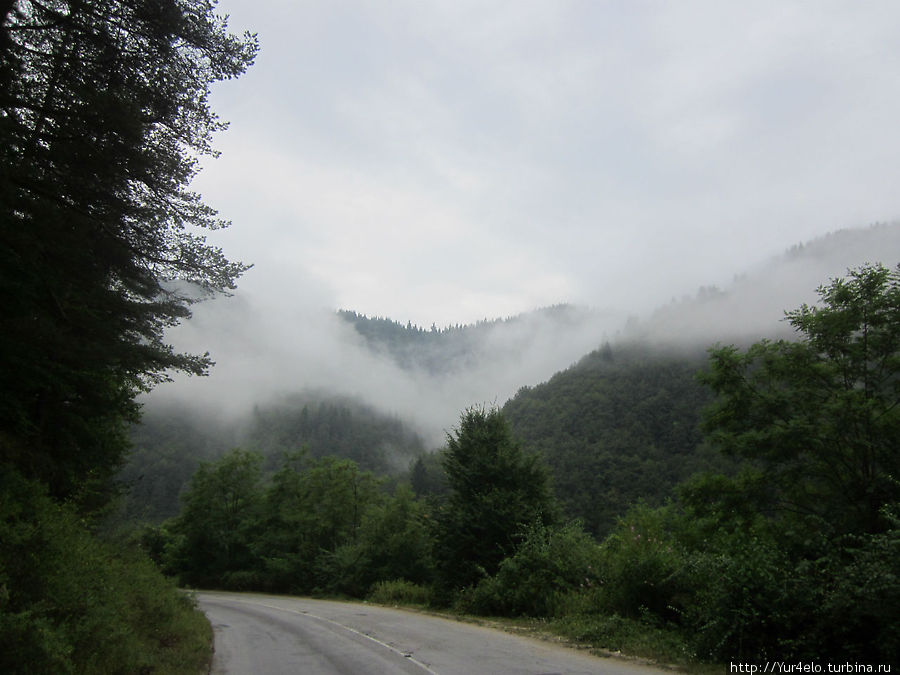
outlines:
[[[0,672],[196,673],[211,639],[146,556],[0,472]]]

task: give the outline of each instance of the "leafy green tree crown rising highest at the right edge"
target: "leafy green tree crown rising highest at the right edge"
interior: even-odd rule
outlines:
[[[798,340],[712,351],[702,380],[719,398],[705,426],[750,460],[744,504],[879,532],[900,501],[900,271],[866,265],[818,292],[819,306],[787,313]]]

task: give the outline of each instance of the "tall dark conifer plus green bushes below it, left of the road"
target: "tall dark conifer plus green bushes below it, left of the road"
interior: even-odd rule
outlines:
[[[214,82],[256,41],[213,3],[0,5],[0,670],[196,673],[211,631],[140,549],[100,536],[135,396],[202,374],[164,330],[246,269],[188,190]]]

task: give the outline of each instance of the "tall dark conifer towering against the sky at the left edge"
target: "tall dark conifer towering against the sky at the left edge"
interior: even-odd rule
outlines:
[[[0,4],[0,459],[57,495],[114,468],[137,392],[205,372],[164,330],[246,269],[189,190],[256,53],[214,5]]]

